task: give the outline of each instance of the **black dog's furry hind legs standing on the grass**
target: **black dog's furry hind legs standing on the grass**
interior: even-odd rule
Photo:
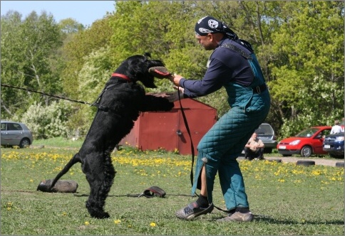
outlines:
[[[97,166],[96,169],[91,170],[88,168],[88,163],[84,163],[84,166],[84,173],[86,173],[86,170],[89,171],[86,173],[86,178],[91,188],[91,193],[86,201],[88,213],[93,218],[109,218],[110,215],[103,208],[116,173],[110,155],[106,154],[104,161],[100,160],[100,163],[93,163],[93,166]]]

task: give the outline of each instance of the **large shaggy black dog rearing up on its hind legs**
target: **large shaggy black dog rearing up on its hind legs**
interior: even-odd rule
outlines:
[[[126,75],[130,81],[110,77],[98,99],[98,110],[83,146],[51,183],[50,188],[53,188],[71,166],[80,162],[91,188],[86,208],[93,218],[109,218],[103,208],[116,173],[110,158],[115,146],[133,128],[140,112],[169,111],[174,106],[163,97],[145,95],[144,87],[137,83],[156,87],[153,75],[148,73],[148,68],[154,66],[164,64],[160,60],[149,60],[146,55],[133,55],[121,63],[115,73]]]

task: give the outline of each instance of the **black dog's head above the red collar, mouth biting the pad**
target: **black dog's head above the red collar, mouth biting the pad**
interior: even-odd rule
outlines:
[[[150,53],[133,55],[121,63],[115,73],[127,75],[131,81],[140,81],[145,87],[155,88],[155,77],[148,72],[154,66],[164,66],[161,60],[150,60]]]

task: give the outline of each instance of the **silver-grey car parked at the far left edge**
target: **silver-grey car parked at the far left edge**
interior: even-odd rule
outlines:
[[[28,147],[34,138],[25,124],[1,120],[1,146]]]

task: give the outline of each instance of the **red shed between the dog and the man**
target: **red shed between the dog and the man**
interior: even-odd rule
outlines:
[[[197,144],[204,134],[217,122],[217,110],[193,99],[181,100],[187,119],[192,142],[197,154]],[[182,155],[192,154],[190,136],[176,101],[170,112],[143,112],[134,124],[130,134],[121,145],[138,147],[140,150],[165,149]]]

